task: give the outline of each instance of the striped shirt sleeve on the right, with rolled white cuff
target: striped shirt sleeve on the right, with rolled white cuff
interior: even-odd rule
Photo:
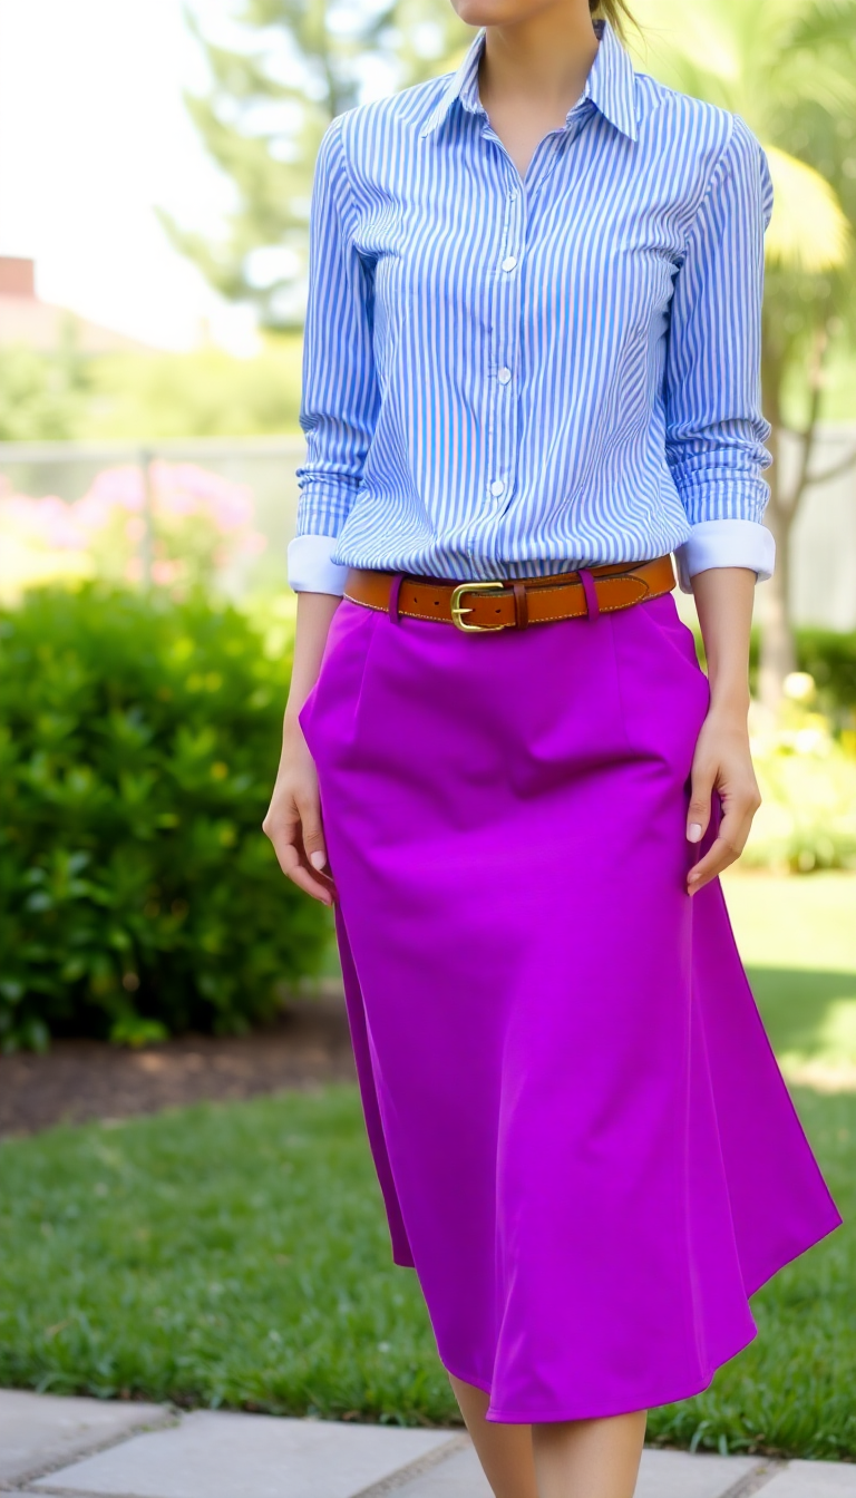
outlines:
[[[763,470],[771,424],[762,412],[763,237],[772,181],[741,118],[711,174],[675,279],[666,361],[666,458],[693,527],[678,577],[744,566],[771,577]]]

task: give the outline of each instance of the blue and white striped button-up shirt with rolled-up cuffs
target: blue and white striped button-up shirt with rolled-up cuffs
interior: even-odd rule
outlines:
[[[607,21],[525,178],[460,67],[327,127],[289,581],[532,577],[675,551],[769,577],[766,156]]]

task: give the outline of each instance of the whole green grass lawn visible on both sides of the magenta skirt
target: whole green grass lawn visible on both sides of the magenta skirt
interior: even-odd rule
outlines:
[[[831,911],[855,888],[729,882],[777,1044],[834,1055],[829,1002],[850,1002],[841,980],[853,984],[856,962]],[[711,1390],[654,1411],[649,1440],[856,1459],[856,1094],[795,1100],[846,1225],[754,1297],[760,1336]],[[414,1275],[390,1263],[349,1086],[10,1140],[0,1234],[0,1384],[456,1419]]]

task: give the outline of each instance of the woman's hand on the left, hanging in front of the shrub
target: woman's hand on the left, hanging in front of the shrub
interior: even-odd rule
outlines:
[[[300,724],[288,722],[282,756],[262,831],[270,837],[282,872],[313,900],[333,905],[336,887],[328,873],[318,774]]]

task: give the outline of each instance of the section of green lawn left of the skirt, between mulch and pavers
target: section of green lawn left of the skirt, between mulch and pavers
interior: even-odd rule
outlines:
[[[0,1150],[0,1384],[444,1420],[349,1085]]]

